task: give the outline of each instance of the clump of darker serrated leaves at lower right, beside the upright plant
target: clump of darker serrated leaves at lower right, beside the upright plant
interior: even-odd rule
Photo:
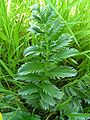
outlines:
[[[85,74],[80,79],[76,79],[69,82],[66,86],[62,87],[65,93],[62,102],[57,105],[57,109],[64,111],[67,116],[68,114],[80,114],[79,117],[84,120],[90,118],[90,74]],[[71,115],[77,118],[76,115]],[[88,118],[89,117],[89,118]],[[87,118],[87,119],[86,119]],[[77,119],[76,119],[77,120]]]

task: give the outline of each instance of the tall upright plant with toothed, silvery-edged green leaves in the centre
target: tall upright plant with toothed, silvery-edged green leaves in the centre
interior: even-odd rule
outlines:
[[[63,23],[49,7],[34,9],[31,23],[29,30],[35,39],[24,51],[29,61],[19,68],[16,80],[24,83],[19,95],[33,107],[46,110],[63,96],[53,80],[76,76],[76,70],[63,62],[78,51],[69,47],[73,38],[67,33],[61,34]]]

